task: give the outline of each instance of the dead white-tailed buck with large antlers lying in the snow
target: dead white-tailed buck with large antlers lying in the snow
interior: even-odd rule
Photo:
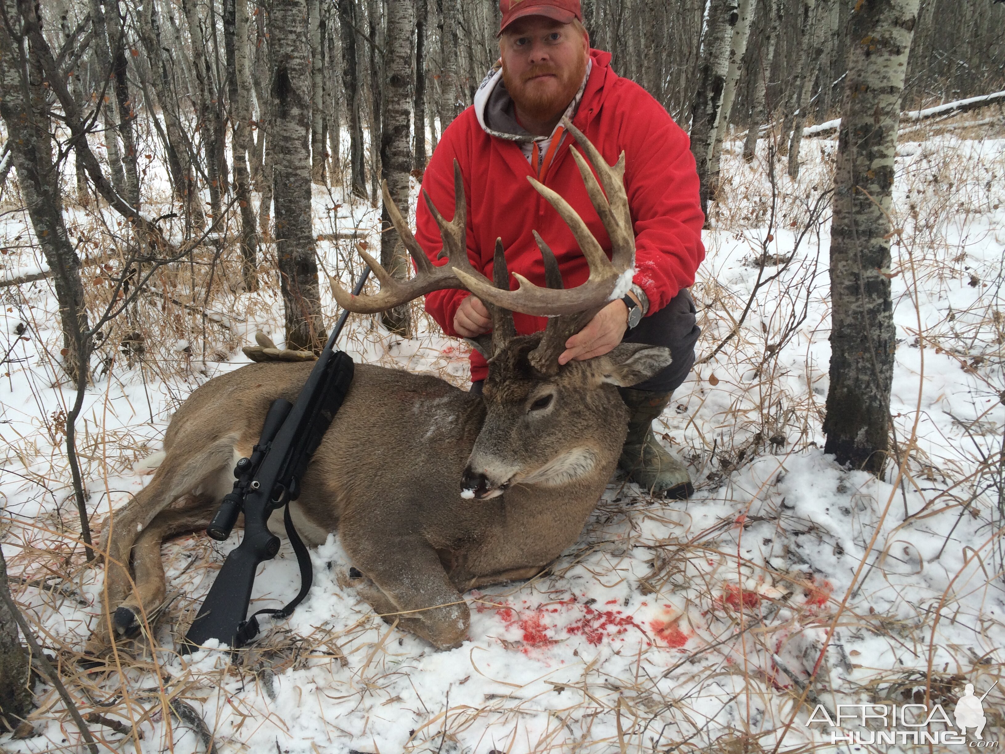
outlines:
[[[491,336],[476,344],[489,360],[482,395],[434,377],[357,366],[304,477],[303,494],[291,504],[292,521],[308,542],[320,544],[338,531],[362,573],[359,593],[378,613],[400,617],[402,627],[437,647],[454,646],[467,634],[461,592],[530,578],[576,541],[624,442],[627,409],[617,386],[647,379],[670,362],[667,349],[621,344],[605,356],[559,366],[566,340],[622,295],[635,251],[624,155],[608,166],[578,130],[567,128],[600,178],[598,184],[572,150],[610,235],[611,258],[565,200],[535,186],[586,255],[590,277],[584,285],[562,290],[558,265],[540,237],[548,288],[520,277],[520,288],[510,291],[499,243],[494,285],[476,271],[464,244],[465,197],[456,164],[452,221],[426,197],[443,238],[444,264],[429,261],[385,189],[394,226],[415,260],[415,277],[395,279],[361,250],[381,281],[380,293],[354,297],[333,281],[335,298],[353,312],[382,312],[455,288],[480,298],[492,316]],[[518,336],[512,311],[552,318],[543,333]],[[107,647],[106,626],[129,634],[162,604],[162,540],[209,523],[231,489],[235,461],[257,441],[269,405],[279,397],[295,400],[311,368],[251,364],[210,380],[178,410],[150,485],[105,527],[108,613],[91,636],[91,651]]]

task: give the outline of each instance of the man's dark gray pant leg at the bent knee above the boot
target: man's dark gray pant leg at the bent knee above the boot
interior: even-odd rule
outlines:
[[[687,379],[690,368],[694,366],[694,344],[701,334],[696,314],[694,300],[685,289],[681,289],[669,304],[651,317],[643,317],[638,327],[624,337],[624,343],[663,346],[670,349],[673,356],[670,366],[645,382],[632,385],[633,390],[669,393]]]

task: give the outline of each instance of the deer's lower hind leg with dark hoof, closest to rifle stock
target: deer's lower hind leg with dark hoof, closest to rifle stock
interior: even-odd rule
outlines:
[[[164,540],[205,529],[213,514],[212,501],[197,498],[185,508],[162,511],[137,537],[133,545],[134,588],[112,616],[117,634],[136,635],[144,618],[150,621],[164,603],[167,596],[164,560],[161,557]]]

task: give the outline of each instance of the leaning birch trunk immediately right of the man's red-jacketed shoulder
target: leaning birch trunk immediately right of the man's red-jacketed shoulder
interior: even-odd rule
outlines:
[[[740,0],[712,0],[705,34],[701,67],[691,107],[690,147],[701,182],[701,211],[709,214],[712,142],[723,105],[726,74],[730,67],[733,27],[739,17]]]

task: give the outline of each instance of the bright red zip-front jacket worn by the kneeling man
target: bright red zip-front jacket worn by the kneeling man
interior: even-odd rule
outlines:
[[[635,229],[634,282],[649,299],[649,312],[665,307],[682,288],[694,282],[705,258],[698,201],[698,179],[686,134],[666,111],[634,81],[610,67],[611,55],[591,50],[593,68],[573,124],[596,145],[609,164],[625,153],[625,188]],[[611,242],[590,204],[569,150],[582,149],[567,136],[543,183],[579,212],[610,255]],[[510,272],[545,285],[541,251],[532,230],[541,233],[559,262],[565,287],[586,281],[589,266],[572,232],[527,176],[534,175],[520,145],[489,136],[468,108],[443,132],[426,167],[422,188],[449,219],[453,214],[453,161],[460,164],[467,197],[467,255],[475,269],[492,277],[496,237],[502,238]],[[436,221],[420,199],[416,239],[434,264],[443,242]],[[517,281],[511,274],[511,289]],[[426,311],[443,332],[456,336],[453,316],[466,291],[435,291],[426,296]],[[544,330],[547,319],[514,314],[521,334]],[[479,353],[471,353],[471,379],[488,373]]]

